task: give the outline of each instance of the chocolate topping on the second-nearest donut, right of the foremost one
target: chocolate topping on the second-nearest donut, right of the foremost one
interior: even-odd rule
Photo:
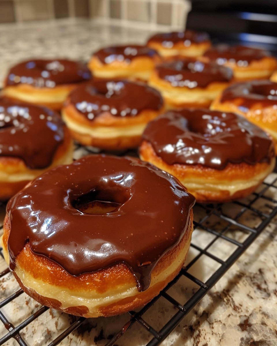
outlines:
[[[205,109],[169,111],[151,121],[142,138],[168,164],[222,170],[228,163],[270,162],[274,145],[267,134],[234,113]]]

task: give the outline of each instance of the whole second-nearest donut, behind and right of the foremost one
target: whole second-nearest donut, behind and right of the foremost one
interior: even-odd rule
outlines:
[[[235,113],[169,111],[146,127],[140,157],[177,177],[199,202],[226,202],[253,192],[272,172],[272,140]]]

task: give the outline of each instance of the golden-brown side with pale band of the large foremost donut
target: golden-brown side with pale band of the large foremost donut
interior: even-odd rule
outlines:
[[[184,237],[155,266],[150,287],[143,292],[137,291],[134,276],[123,263],[75,277],[45,256],[34,254],[28,244],[17,257],[14,275],[20,287],[43,305],[83,317],[118,315],[148,303],[179,273],[189,250],[192,220],[191,210]],[[1,242],[8,263],[9,231],[6,218]]]

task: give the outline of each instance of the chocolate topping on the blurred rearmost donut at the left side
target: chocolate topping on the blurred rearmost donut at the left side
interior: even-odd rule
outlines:
[[[12,67],[6,85],[30,84],[36,88],[54,88],[59,84],[72,84],[91,79],[91,72],[80,62],[56,60],[30,60]]]

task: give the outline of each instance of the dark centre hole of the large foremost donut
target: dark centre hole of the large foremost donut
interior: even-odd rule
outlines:
[[[75,199],[73,208],[86,214],[106,214],[117,211],[127,200],[126,192],[116,190],[92,190]]]

